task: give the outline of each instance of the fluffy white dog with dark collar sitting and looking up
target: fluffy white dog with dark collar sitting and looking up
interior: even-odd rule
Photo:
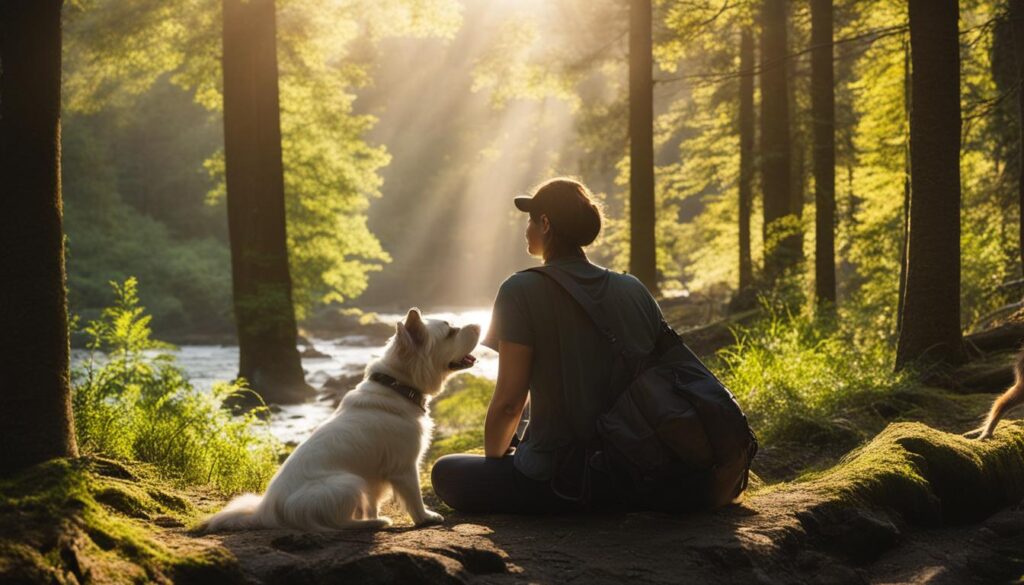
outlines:
[[[391,491],[417,526],[444,519],[420,493],[433,428],[426,406],[449,375],[473,365],[480,328],[424,322],[416,308],[396,327],[384,356],[292,452],[266,493],[236,498],[200,530],[381,528],[391,520],[378,515],[378,505]]]

